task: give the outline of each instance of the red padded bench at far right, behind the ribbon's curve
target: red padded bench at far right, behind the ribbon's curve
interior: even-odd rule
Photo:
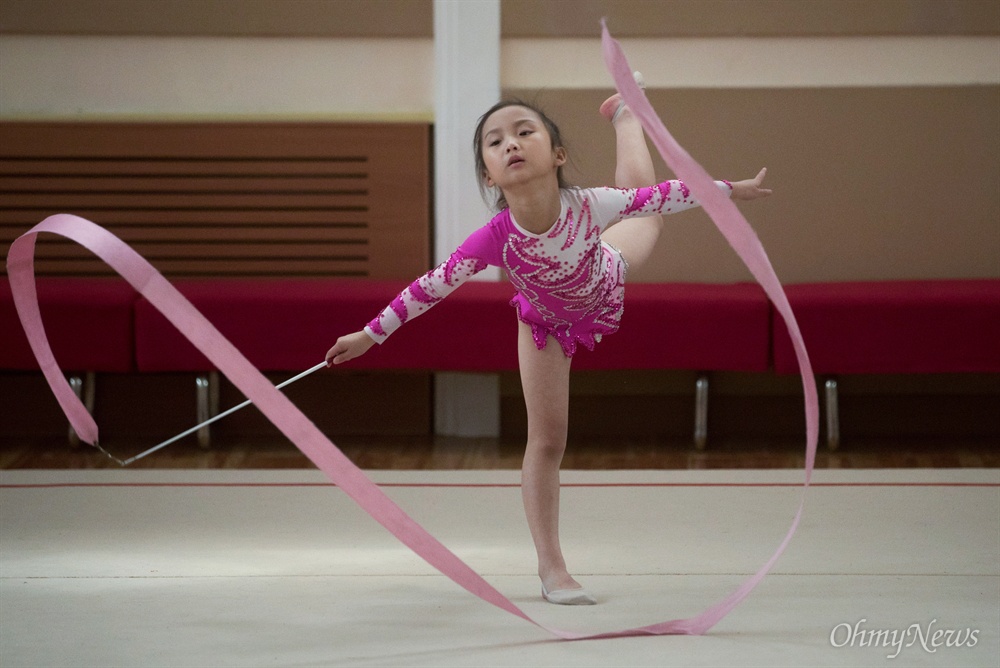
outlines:
[[[810,283],[786,288],[817,375],[1000,371],[1000,280]],[[798,363],[775,315],[774,368]],[[840,439],[837,383],[825,383],[827,439]]]

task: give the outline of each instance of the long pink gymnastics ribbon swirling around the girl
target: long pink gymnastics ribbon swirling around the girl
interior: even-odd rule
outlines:
[[[631,69],[628,67],[618,44],[610,38],[606,27],[604,28],[603,41],[609,69],[612,71],[618,90],[626,103],[638,114],[647,133],[650,134],[657,148],[663,153],[667,164],[688,183],[706,211],[715,220],[719,229],[726,235],[730,244],[767,291],[776,308],[785,318],[796,352],[799,355],[803,385],[806,391],[808,434],[806,477],[802,502],[799,504],[798,512],[788,534],[777,551],[755,575],[733,594],[696,617],[622,631],[581,634],[560,631],[536,622],[386,496],[378,485],[365,476],[361,469],[355,466],[337,446],[327,439],[149,262],[123,241],[98,225],[76,216],[59,214],[46,218],[14,241],[7,254],[7,271],[15,306],[35,357],[59,405],[81,440],[96,445],[97,424],[73,393],[60,371],[42,324],[34,274],[35,238],[41,232],[50,232],[72,239],[104,260],[163,313],[337,487],[346,492],[361,508],[403,544],[472,594],[567,640],[679,633],[701,634],[714,626],[742,601],[771,569],[798,526],[805,501],[805,489],[809,484],[815,457],[819,422],[816,387],[805,353],[805,346],[792,316],[791,308],[760,242],[736,207],[719,193],[712,179],[677,145],[659,119],[656,118],[649,103],[632,80]]]

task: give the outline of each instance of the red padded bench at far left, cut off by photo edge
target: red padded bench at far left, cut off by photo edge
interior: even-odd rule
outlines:
[[[92,413],[95,374],[136,368],[133,311],[138,294],[119,279],[39,277],[36,285],[52,352],[59,366],[71,372],[70,385]],[[6,276],[0,279],[0,323],[0,369],[38,370]],[[72,430],[70,440],[76,440]]]

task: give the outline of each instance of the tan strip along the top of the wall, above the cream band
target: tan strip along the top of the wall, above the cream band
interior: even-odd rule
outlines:
[[[466,0],[474,1],[474,0]],[[504,37],[982,35],[995,0],[501,0]],[[0,32],[432,37],[431,0],[4,0]]]

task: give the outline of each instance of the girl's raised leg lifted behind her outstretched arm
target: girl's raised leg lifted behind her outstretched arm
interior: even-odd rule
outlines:
[[[620,96],[614,95],[601,105],[602,113],[609,108],[618,108]],[[605,116],[607,114],[605,113]],[[653,170],[653,159],[646,145],[639,119],[632,110],[625,107],[614,121],[615,150],[615,185],[619,188],[639,188],[656,183]],[[601,238],[621,251],[629,264],[630,270],[635,270],[646,263],[660,238],[663,229],[661,216],[647,218],[630,218],[609,226]]]

